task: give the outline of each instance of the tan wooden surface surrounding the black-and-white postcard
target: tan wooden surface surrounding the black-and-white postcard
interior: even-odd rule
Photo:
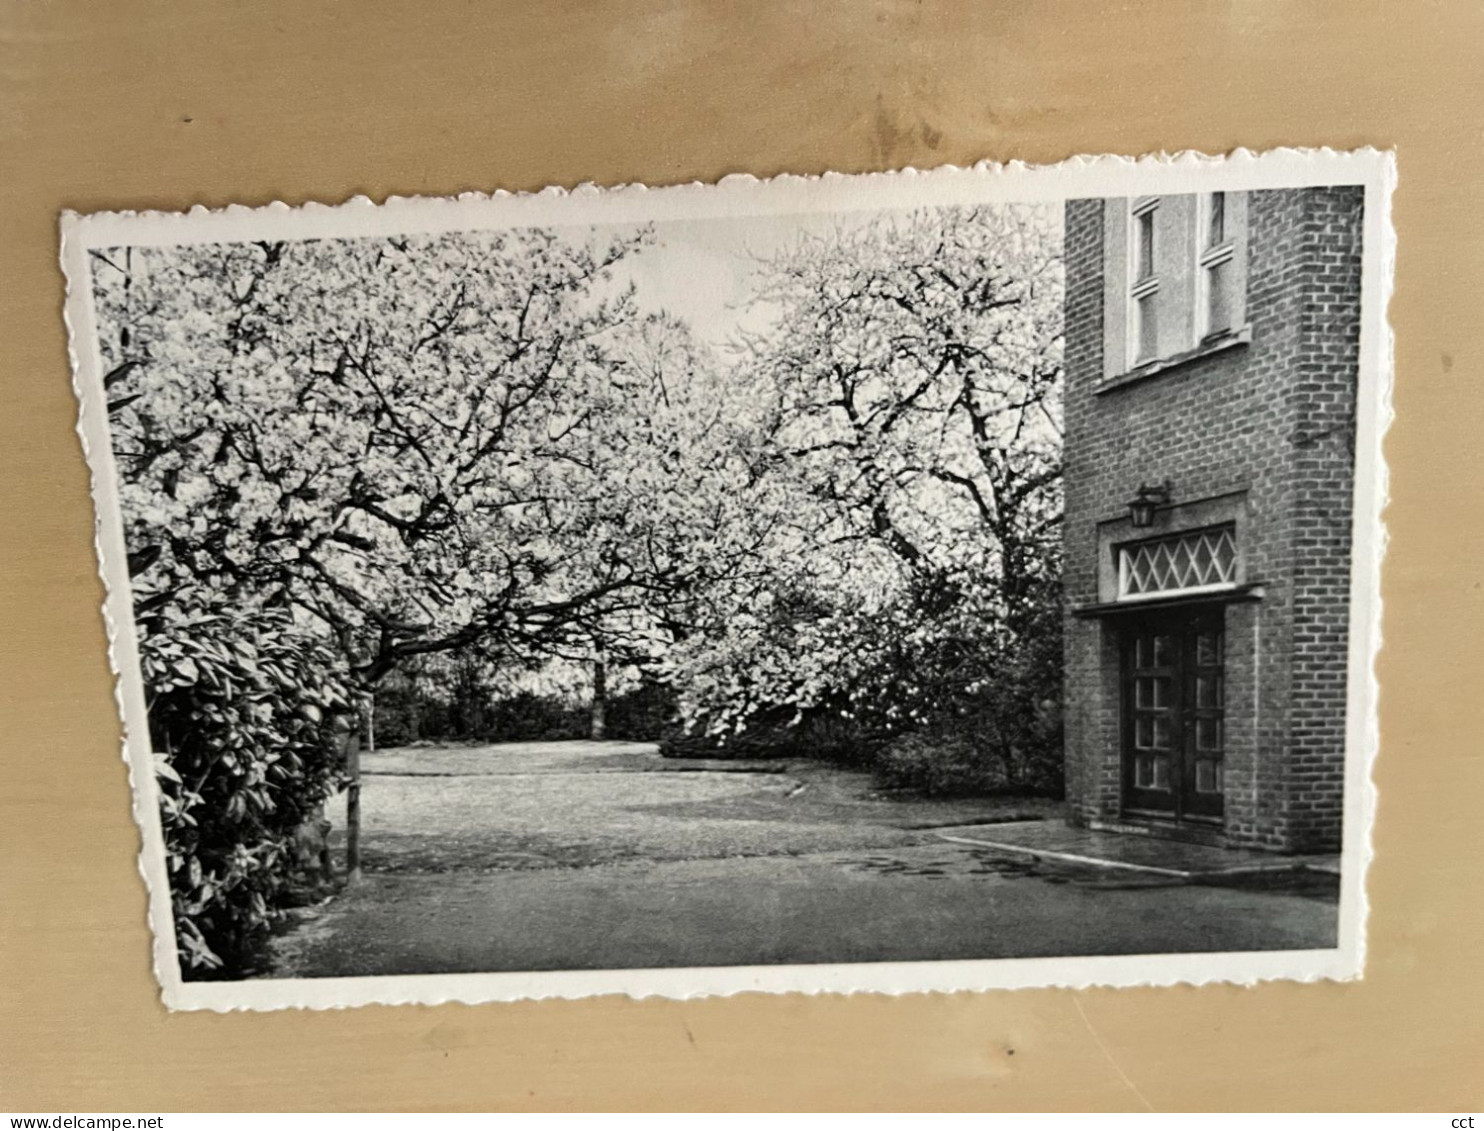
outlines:
[[[0,1109],[1484,1101],[1484,4],[0,3]],[[168,1015],[56,214],[1395,145],[1361,984]],[[1439,1124],[1441,1127],[1441,1124]]]

